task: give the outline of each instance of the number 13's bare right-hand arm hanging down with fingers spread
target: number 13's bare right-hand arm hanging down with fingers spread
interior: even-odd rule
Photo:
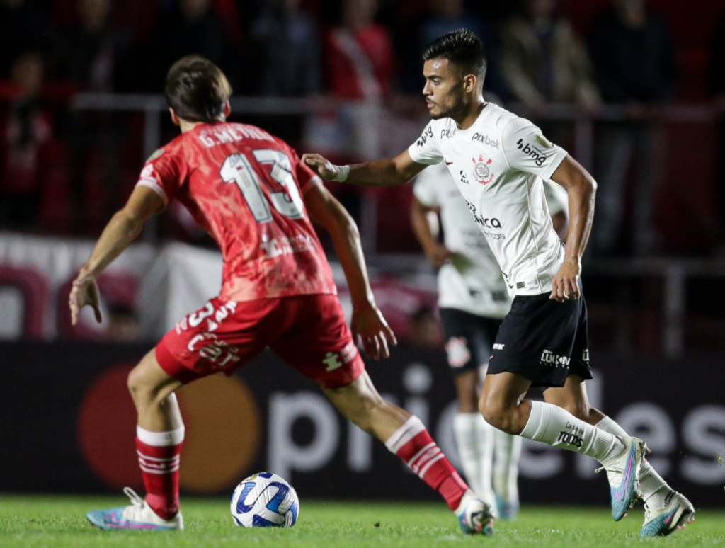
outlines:
[[[321,184],[310,186],[304,199],[310,219],[323,226],[332,236],[337,257],[347,278],[352,296],[352,335],[357,341],[363,342],[367,357],[375,360],[389,357],[388,344],[397,344],[397,340],[375,304],[355,220]]]

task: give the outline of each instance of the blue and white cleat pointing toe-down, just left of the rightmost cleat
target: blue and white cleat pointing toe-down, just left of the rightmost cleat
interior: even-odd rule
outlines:
[[[602,462],[597,472],[607,470],[607,478],[612,495],[612,518],[621,520],[641,496],[639,486],[639,468],[642,459],[649,451],[647,444],[639,438],[617,436],[624,444],[624,451],[617,457]]]

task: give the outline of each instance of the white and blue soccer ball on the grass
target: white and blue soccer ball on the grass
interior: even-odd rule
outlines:
[[[240,527],[291,527],[299,499],[284,478],[271,472],[252,474],[231,495],[231,517]]]

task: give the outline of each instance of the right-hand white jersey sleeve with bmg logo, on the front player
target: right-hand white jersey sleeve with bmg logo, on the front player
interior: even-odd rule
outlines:
[[[501,141],[513,169],[533,173],[542,179],[550,179],[567,154],[524,118],[511,120],[502,132]]]

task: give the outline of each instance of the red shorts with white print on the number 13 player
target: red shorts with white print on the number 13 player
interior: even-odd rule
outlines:
[[[188,383],[219,371],[231,375],[267,346],[326,389],[346,386],[365,370],[336,295],[217,297],[166,333],[156,359]]]

